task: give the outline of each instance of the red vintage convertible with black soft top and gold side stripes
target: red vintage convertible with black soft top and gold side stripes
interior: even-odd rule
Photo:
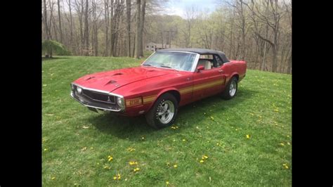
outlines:
[[[221,93],[233,98],[247,63],[221,51],[162,49],[140,67],[98,72],[71,84],[70,95],[90,110],[145,115],[157,129],[170,126],[178,107]]]

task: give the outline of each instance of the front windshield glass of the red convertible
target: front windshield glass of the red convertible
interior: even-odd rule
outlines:
[[[196,56],[196,53],[157,51],[143,65],[191,71]]]

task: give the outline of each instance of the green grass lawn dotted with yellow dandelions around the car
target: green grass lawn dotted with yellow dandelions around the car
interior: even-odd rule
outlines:
[[[292,186],[290,75],[247,70],[235,98],[185,105],[161,130],[143,116],[98,114],[70,98],[75,79],[141,61],[43,60],[43,186]]]

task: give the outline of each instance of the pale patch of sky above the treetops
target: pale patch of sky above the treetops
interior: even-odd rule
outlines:
[[[199,8],[199,11],[211,13],[215,10],[217,2],[216,0],[169,0],[163,13],[185,18],[186,8],[191,6]]]

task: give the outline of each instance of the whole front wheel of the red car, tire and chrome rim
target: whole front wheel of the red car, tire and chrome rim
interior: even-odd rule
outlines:
[[[145,115],[145,119],[151,127],[161,129],[174,123],[177,112],[178,101],[175,96],[171,93],[164,93]]]

